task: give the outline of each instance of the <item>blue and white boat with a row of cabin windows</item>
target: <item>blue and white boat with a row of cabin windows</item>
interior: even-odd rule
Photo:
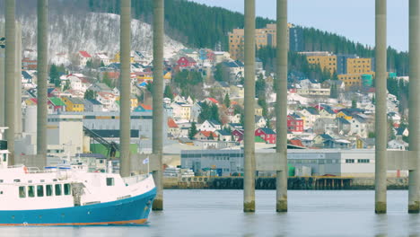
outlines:
[[[0,226],[146,222],[156,195],[152,175],[121,178],[81,164],[10,167],[3,132],[0,127]]]

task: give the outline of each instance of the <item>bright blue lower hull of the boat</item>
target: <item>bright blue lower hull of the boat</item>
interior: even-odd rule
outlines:
[[[0,226],[144,224],[156,189],[142,195],[88,206],[0,211]]]

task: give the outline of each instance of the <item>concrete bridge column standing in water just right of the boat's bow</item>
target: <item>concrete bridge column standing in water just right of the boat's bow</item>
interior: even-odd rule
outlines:
[[[153,179],[157,194],[153,201],[153,210],[163,210],[163,37],[164,37],[164,2],[153,1],[153,157],[156,159],[156,171]]]

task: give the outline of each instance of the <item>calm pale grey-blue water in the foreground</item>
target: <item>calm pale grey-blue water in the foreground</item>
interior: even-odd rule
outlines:
[[[420,236],[407,214],[407,191],[388,192],[388,215],[373,213],[373,191],[289,191],[277,214],[276,193],[257,191],[257,212],[242,212],[241,190],[165,190],[165,210],[142,226],[4,227],[0,236]]]

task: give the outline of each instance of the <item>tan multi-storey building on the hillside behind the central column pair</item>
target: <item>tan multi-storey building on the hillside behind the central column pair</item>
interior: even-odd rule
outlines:
[[[287,39],[289,39],[289,29],[293,27],[293,24],[288,24],[287,28]],[[229,33],[229,53],[234,60],[243,60],[244,55],[244,29],[233,29]],[[255,30],[255,44],[257,49],[271,46],[276,47],[277,45],[277,29],[276,24],[267,24],[266,28]],[[289,40],[287,40],[288,42]]]

